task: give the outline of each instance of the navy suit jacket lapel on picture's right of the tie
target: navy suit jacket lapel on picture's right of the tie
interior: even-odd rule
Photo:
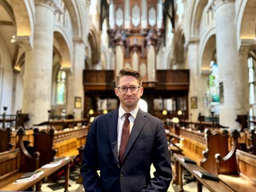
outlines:
[[[135,118],[135,122],[132,127],[132,132],[130,134],[126,149],[125,149],[125,154],[124,154],[124,161],[127,153],[130,151],[134,141],[137,139],[138,135],[140,134],[142,128],[144,127],[145,123],[147,121],[146,118],[146,113],[142,111],[141,109],[138,110],[137,117]]]

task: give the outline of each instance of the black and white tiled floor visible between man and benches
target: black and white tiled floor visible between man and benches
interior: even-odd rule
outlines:
[[[154,166],[151,167],[151,177],[153,177],[153,172],[155,171],[154,169]],[[75,170],[75,171],[71,171],[70,172],[70,175],[72,174],[78,174],[79,172],[79,169]],[[185,185],[183,185],[183,189],[185,191],[188,191],[188,192],[196,192],[197,191],[197,185],[196,185],[196,182],[195,181],[191,181],[192,178],[189,179],[189,174],[185,175],[185,179],[183,180]],[[61,182],[64,182],[64,180],[60,180],[59,181],[60,183]],[[56,190],[53,190],[52,188],[50,188],[49,186],[52,186],[56,183],[44,183],[42,185],[42,191],[55,191],[55,192],[62,192],[64,191],[64,188],[59,188],[59,189],[56,189]],[[70,192],[84,192],[84,187],[83,185],[81,184],[77,184],[75,181],[69,179],[69,185],[70,187],[68,188],[68,190]],[[167,192],[177,192],[179,191],[179,186],[173,186],[172,184],[170,185],[169,189],[167,190]],[[207,190],[206,188],[203,187],[203,192],[207,192],[209,190]]]

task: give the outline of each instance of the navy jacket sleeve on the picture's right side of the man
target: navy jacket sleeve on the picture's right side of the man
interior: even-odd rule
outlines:
[[[143,192],[167,191],[172,180],[171,158],[167,146],[166,134],[159,119],[153,147],[153,165],[156,169],[154,178]]]

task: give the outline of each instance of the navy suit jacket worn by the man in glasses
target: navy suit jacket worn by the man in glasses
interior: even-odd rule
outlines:
[[[172,169],[161,120],[139,109],[121,164],[117,154],[117,119],[118,109],[96,117],[90,127],[81,167],[85,191],[167,191]],[[151,179],[152,163],[156,171]]]

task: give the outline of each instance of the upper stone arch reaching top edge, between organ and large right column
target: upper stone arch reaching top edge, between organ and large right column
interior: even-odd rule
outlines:
[[[202,14],[204,11],[204,7],[207,4],[205,0],[196,0],[191,5],[191,12],[189,14],[189,37],[198,37],[199,36],[199,28],[201,23]]]

